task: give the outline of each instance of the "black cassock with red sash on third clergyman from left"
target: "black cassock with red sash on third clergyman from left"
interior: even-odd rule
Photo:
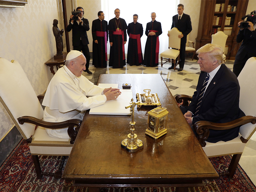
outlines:
[[[127,33],[129,36],[129,44],[127,51],[127,63],[132,65],[143,64],[143,56],[141,51],[140,37],[143,35],[143,27],[140,23],[129,23]],[[139,35],[139,36],[136,36]],[[138,45],[139,42],[139,45]]]

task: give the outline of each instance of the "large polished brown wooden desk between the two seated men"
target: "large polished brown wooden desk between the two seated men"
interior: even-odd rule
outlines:
[[[130,116],[85,114],[62,178],[86,187],[188,187],[203,186],[204,179],[219,175],[204,154],[160,74],[104,74],[98,83],[131,83],[133,99],[143,89],[157,93],[169,111],[167,134],[158,140],[145,135],[147,111],[136,107],[135,133],[144,148],[129,153],[121,148],[127,137]]]

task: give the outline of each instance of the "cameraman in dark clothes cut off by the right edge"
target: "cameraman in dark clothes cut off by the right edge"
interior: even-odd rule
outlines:
[[[247,20],[244,19],[247,17]],[[236,59],[233,66],[233,72],[236,76],[240,74],[246,61],[251,57],[256,57],[256,15],[255,11],[251,14],[242,17],[242,21],[238,22],[240,28],[238,35],[236,36],[236,42],[242,44],[236,53]]]

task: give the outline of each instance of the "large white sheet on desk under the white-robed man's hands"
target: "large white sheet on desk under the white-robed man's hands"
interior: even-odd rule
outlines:
[[[100,86],[100,85],[99,85]],[[90,109],[91,115],[131,115],[130,108],[125,106],[130,105],[132,99],[131,89],[122,89],[122,93],[116,100],[106,101],[105,104]]]

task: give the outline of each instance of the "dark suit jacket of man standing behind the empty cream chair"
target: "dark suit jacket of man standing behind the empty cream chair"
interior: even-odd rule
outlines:
[[[190,16],[183,13],[180,22],[178,23],[179,14],[172,17],[172,28],[176,27],[182,34],[181,44],[186,44],[187,35],[192,31]],[[172,29],[171,28],[171,29]]]

